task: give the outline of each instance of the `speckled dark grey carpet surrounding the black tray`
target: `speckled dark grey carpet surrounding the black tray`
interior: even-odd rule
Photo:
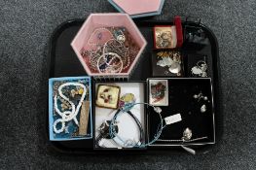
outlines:
[[[115,12],[106,0],[0,1],[1,169],[255,169],[256,1],[166,0],[163,15],[201,17],[219,41],[223,137],[211,153],[58,156],[46,152],[47,47],[71,18]]]

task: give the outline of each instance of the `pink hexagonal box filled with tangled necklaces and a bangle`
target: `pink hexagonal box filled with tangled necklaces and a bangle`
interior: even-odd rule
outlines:
[[[147,43],[127,14],[91,14],[71,43],[89,76],[128,78]]]

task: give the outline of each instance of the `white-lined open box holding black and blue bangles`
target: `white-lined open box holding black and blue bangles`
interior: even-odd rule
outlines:
[[[105,90],[99,90],[104,86]],[[127,112],[122,113],[120,109],[104,108],[108,103],[108,97],[111,95],[111,87],[119,88],[119,105],[125,104],[128,98],[134,102],[144,103],[146,100],[146,83],[145,82],[95,82],[94,84],[94,149],[97,150],[131,150],[128,143],[145,143],[146,131],[146,108],[144,105],[132,107]],[[102,92],[103,91],[103,92]],[[128,96],[129,95],[129,96]],[[100,98],[99,100],[97,98]],[[127,98],[127,99],[126,99]],[[97,104],[97,101],[106,100],[103,105]],[[122,103],[123,102],[123,103]],[[118,106],[119,108],[121,106]],[[117,117],[114,128],[117,131],[117,137],[109,134],[109,124],[113,117]],[[122,138],[122,139],[119,139]],[[132,145],[132,144],[131,144]],[[134,145],[134,144],[133,144]],[[145,149],[145,147],[136,148]]]

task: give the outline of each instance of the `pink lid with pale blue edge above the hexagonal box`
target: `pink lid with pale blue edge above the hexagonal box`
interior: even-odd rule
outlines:
[[[130,17],[150,17],[161,15],[165,0],[108,0],[120,13]]]

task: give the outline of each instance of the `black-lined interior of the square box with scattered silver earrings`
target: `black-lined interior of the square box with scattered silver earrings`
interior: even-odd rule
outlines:
[[[152,146],[203,145],[215,143],[214,106],[211,79],[209,78],[167,78],[149,79],[151,81],[167,81],[167,105],[162,106],[163,118],[178,115],[180,120],[167,124],[161,137]],[[152,108],[148,113],[148,140],[154,139],[159,125],[159,117]],[[184,139],[184,132],[191,130],[191,135]]]

